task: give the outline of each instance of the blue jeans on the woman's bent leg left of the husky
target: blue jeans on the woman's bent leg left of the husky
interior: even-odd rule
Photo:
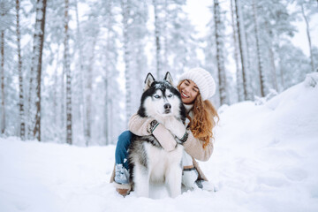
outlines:
[[[125,169],[128,170],[128,148],[132,140],[133,133],[125,131],[118,136],[117,146],[115,151],[116,164],[123,164]]]

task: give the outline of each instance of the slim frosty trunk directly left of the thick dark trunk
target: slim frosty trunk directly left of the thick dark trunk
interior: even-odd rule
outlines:
[[[18,45],[18,72],[19,72],[19,119],[20,119],[20,138],[26,139],[26,123],[25,123],[25,109],[24,109],[24,95],[23,95],[23,73],[22,73],[22,58],[21,58],[21,34],[19,31],[19,0],[16,0],[17,12],[17,45]]]

